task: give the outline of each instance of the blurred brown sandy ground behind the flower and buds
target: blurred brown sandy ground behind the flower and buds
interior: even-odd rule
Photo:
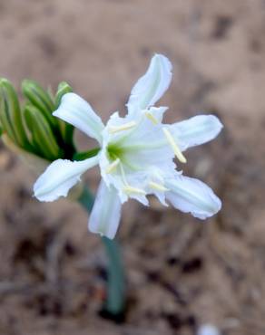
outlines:
[[[107,120],[153,53],[173,81],[169,122],[204,111],[225,125],[187,154],[184,173],[223,201],[202,223],[154,200],[130,201],[118,238],[129,294],[124,321],[103,319],[105,256],[87,215],[38,203],[36,176],[0,147],[0,334],[265,333],[265,1],[0,0],[0,76],[68,81]],[[93,143],[77,134],[83,148]],[[99,175],[86,176],[96,189]]]

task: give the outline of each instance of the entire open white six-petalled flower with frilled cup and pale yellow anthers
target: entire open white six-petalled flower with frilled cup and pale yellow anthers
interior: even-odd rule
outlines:
[[[200,180],[184,177],[173,158],[186,162],[183,151],[214,139],[221,131],[220,120],[200,115],[172,125],[162,123],[166,107],[153,107],[172,81],[172,64],[155,54],[147,72],[132,88],[123,118],[114,112],[106,126],[92,107],[74,93],[65,94],[54,116],[99,142],[97,156],[83,161],[58,159],[34,184],[34,196],[54,201],[67,196],[81,175],[100,166],[102,181],[90,215],[89,229],[109,238],[116,234],[122,204],[134,198],[148,205],[155,195],[167,206],[205,219],[221,209],[220,199]]]

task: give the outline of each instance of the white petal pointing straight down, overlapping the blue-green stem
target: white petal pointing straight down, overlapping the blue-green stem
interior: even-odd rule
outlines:
[[[88,221],[89,230],[113,239],[120,223],[121,208],[116,189],[107,187],[102,179]]]

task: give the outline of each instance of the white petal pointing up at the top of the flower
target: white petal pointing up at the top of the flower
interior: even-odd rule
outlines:
[[[128,101],[129,113],[154,105],[169,88],[172,81],[172,63],[162,54],[155,54],[147,72],[132,88]]]

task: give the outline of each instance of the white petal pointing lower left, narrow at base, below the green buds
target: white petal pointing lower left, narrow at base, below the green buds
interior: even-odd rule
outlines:
[[[34,196],[40,201],[54,201],[60,196],[67,196],[80,176],[96,164],[97,156],[74,162],[67,159],[55,160],[35,182]]]

